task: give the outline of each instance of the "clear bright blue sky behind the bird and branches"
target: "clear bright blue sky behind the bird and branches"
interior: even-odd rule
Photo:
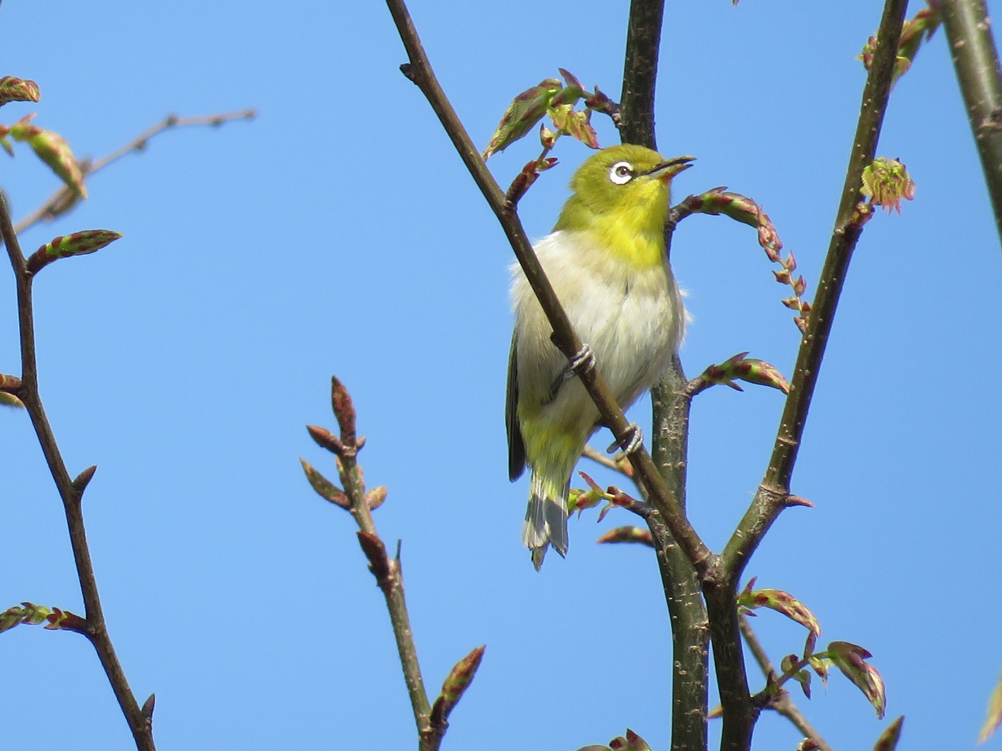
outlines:
[[[483,144],[508,100],[557,66],[618,96],[627,5],[412,10]],[[663,153],[698,157],[677,196],[728,185],[757,198],[809,297],[864,80],[854,56],[880,6],[668,3],[657,135]],[[99,467],[84,501],[94,563],[132,686],[140,701],[156,692],[158,747],[414,745],[351,519],[297,461],[333,476],[303,427],[333,426],[338,373],[369,437],[367,478],[390,487],[377,524],[404,541],[426,681],[437,688],[488,645],[445,748],[573,751],[628,726],[664,749],[669,636],[653,557],[592,544],[631,519],[596,526],[586,513],[568,559],[541,574],[519,544],[526,485],[507,482],[502,417],[511,251],[398,72],[406,58],[383,3],[6,0],[0,29],[0,74],[37,80],[43,97],[4,107],[0,122],[37,111],[79,155],[167,112],[261,110],[164,134],[95,176],[77,211],[23,237],[30,250],[77,229],[125,234],[39,276],[38,344],[70,471]],[[599,136],[616,141],[605,122]],[[518,144],[491,167],[507,182],[534,151]],[[1002,666],[1002,253],[942,33],[897,86],[879,151],[908,164],[916,198],[901,217],[877,216],[854,260],[794,479],[817,508],[785,513],[747,571],[806,602],[823,640],[873,652],[889,719],[908,717],[903,748],[970,748]],[[522,204],[532,236],[587,154],[559,144],[561,164]],[[56,185],[23,147],[0,167],[17,216]],[[694,216],[673,255],[694,316],[690,374],[743,350],[789,373],[797,330],[754,232]],[[16,372],[13,279],[0,279],[0,371]],[[761,480],[781,406],[754,387],[696,400],[689,504],[714,548]],[[80,612],[28,421],[4,412],[0,431],[0,607]],[[803,643],[776,614],[757,625],[777,660]],[[132,747],[82,638],[0,635],[0,674],[8,745]],[[799,702],[839,749],[870,748],[885,724],[839,675]],[[766,715],[757,747],[799,737]]]

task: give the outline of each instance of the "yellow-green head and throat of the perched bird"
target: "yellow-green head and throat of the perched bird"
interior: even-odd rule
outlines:
[[[570,178],[574,194],[554,230],[587,232],[609,252],[637,267],[663,262],[668,183],[693,157],[665,159],[643,146],[603,148]]]

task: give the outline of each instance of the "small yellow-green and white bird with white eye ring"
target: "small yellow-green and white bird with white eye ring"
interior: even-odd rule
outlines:
[[[553,231],[534,245],[539,261],[594,366],[625,410],[665,373],[685,313],[668,266],[668,184],[692,161],[643,146],[610,146],[570,180]],[[515,312],[505,423],[508,474],[532,471],[522,543],[538,570],[547,548],[567,552],[567,493],[599,415],[521,267],[512,266]],[[587,359],[586,351],[581,359]],[[637,434],[638,435],[638,434]]]

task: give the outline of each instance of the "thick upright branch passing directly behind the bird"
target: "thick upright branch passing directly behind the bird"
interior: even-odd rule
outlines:
[[[656,149],[654,87],[663,0],[632,0],[623,65],[620,136],[623,143]],[[670,242],[666,233],[666,244]],[[683,513],[690,398],[675,355],[666,379],[651,390],[651,459]],[[708,625],[699,580],[685,552],[656,515],[647,520],[657,551],[664,598],[671,619],[671,749],[706,748]]]

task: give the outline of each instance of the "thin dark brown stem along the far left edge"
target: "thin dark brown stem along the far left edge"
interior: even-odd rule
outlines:
[[[97,581],[94,578],[94,568],[90,561],[90,550],[87,547],[87,535],[83,526],[81,509],[82,494],[73,488],[66,465],[56,444],[52,428],[45,417],[45,410],[38,395],[38,367],[35,358],[35,324],[32,312],[31,274],[27,270],[24,254],[17,240],[17,233],[10,219],[7,201],[0,195],[0,237],[3,238],[14,269],[17,281],[17,314],[21,338],[21,390],[18,396],[24,403],[25,410],[35,428],[38,443],[48,465],[52,479],[55,481],[62,499],[66,514],[66,525],[69,529],[70,546],[73,550],[73,561],[76,564],[77,579],[80,583],[80,593],[83,597],[85,620],[87,622],[86,637],[94,646],[101,667],[108,677],[108,682],[114,691],[118,706],[132,731],[132,738],[139,751],[155,751],[153,735],[149,719],[142,710],[129,688],[125,673],[104,623],[104,613],[101,610],[101,600],[97,593]]]

